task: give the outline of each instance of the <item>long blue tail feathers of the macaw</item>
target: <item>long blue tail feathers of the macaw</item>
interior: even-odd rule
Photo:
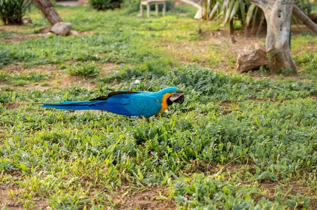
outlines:
[[[54,108],[60,110],[98,110],[93,107],[100,101],[64,101],[60,103],[42,103],[43,108]]]

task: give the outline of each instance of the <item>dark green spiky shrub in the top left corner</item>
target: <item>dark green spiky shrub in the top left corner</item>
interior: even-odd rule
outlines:
[[[5,25],[22,24],[22,17],[30,4],[30,0],[0,0],[1,20]]]

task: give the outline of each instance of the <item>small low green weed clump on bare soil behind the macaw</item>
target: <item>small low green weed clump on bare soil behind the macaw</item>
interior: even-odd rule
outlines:
[[[67,74],[74,76],[95,77],[100,73],[100,68],[97,68],[96,62],[77,63],[75,66],[66,70]]]

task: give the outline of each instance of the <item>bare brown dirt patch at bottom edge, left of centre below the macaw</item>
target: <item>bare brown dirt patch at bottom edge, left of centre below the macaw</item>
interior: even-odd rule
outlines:
[[[136,191],[134,193],[121,189],[113,192],[112,201],[117,203],[119,209],[175,209],[176,205],[172,199],[157,199],[161,195],[168,197],[167,189],[163,186],[154,186],[145,191]]]

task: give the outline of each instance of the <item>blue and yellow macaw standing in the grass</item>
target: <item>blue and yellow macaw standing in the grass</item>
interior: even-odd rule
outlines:
[[[41,103],[43,108],[63,110],[105,110],[118,115],[136,116],[141,119],[164,112],[172,103],[183,103],[183,91],[167,87],[157,92],[115,91],[89,101],[64,101]]]

